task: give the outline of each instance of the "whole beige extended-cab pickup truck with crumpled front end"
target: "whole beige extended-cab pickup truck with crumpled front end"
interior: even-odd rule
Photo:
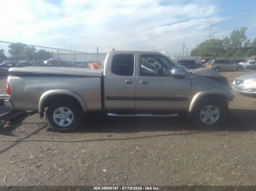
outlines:
[[[147,60],[155,61],[155,70]],[[38,111],[41,118],[47,108],[46,120],[59,132],[75,130],[84,113],[99,110],[109,116],[187,113],[196,126],[212,129],[224,122],[234,97],[218,72],[188,71],[156,52],[111,51],[104,70],[26,67],[9,72],[6,106]]]

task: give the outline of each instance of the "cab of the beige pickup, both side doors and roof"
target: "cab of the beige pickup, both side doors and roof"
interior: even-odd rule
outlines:
[[[156,52],[110,52],[104,68],[105,110],[187,110],[192,86],[189,75],[172,75],[173,62]],[[155,60],[152,70],[141,62]],[[185,72],[184,72],[185,73]]]

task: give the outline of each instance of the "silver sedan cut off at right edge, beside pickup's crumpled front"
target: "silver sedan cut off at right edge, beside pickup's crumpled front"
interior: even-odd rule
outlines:
[[[244,75],[233,81],[233,90],[256,94],[256,74]]]

